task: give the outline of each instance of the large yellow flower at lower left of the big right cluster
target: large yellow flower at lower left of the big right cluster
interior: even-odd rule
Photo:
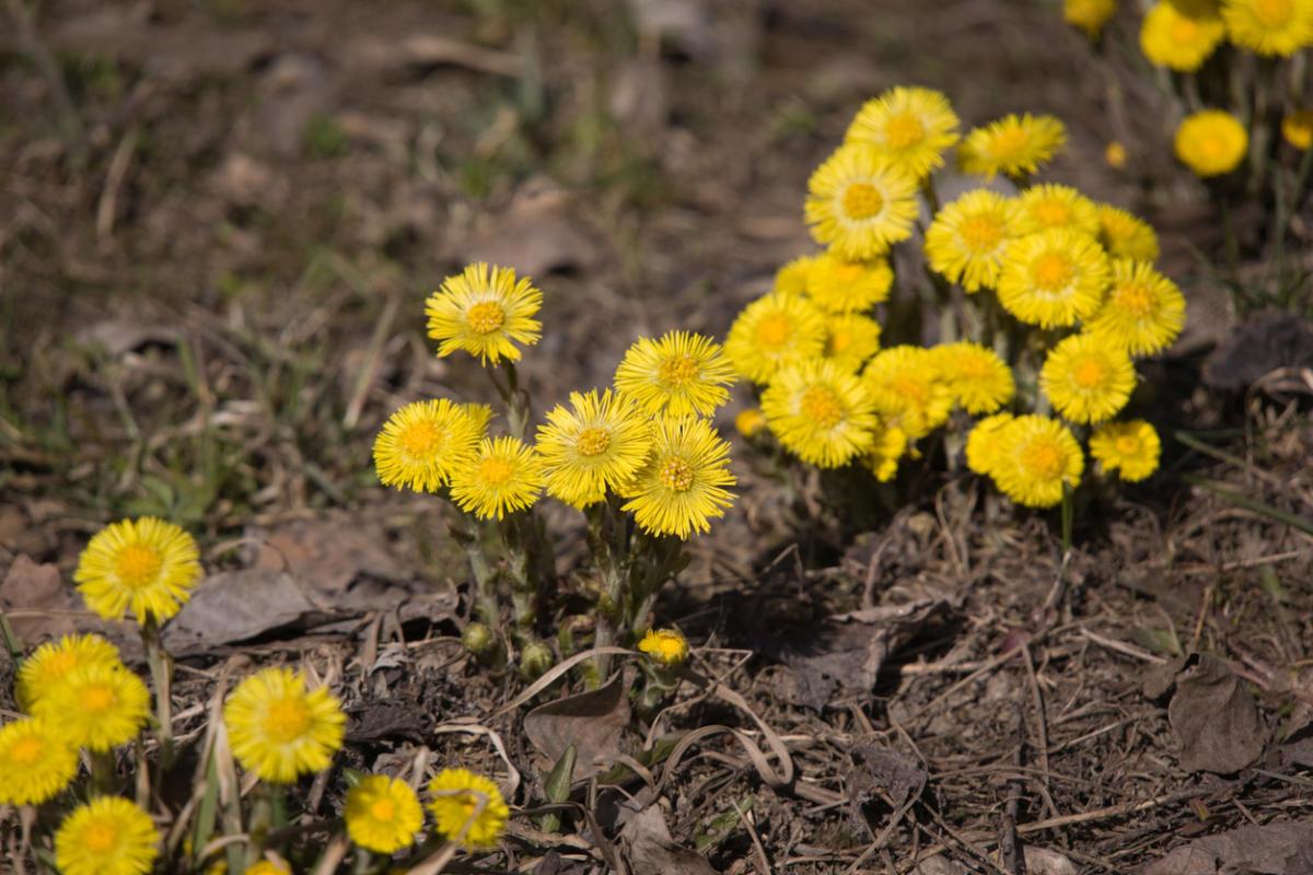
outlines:
[[[822,468],[847,464],[880,424],[861,380],[819,358],[780,369],[762,394],[762,412],[784,449]]]

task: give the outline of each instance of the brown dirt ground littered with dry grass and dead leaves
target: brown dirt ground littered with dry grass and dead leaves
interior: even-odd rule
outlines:
[[[1308,386],[1201,382],[1234,332],[1190,254],[1216,222],[1152,79],[1058,5],[51,0],[24,28],[9,3],[0,597],[29,609],[20,635],[83,628],[87,538],[163,516],[211,575],[315,581],[288,622],[175,630],[184,740],[230,674],[303,662],[345,697],[339,765],[424,752],[519,774],[512,805],[540,805],[529,708],[506,707],[525,685],[462,655],[440,510],[370,463],[400,404],[490,400],[475,363],[433,357],[424,298],[469,261],[530,274],[540,412],[609,382],[639,335],[723,337],[811,251],[802,192],[851,115],[920,84],[966,123],[1057,114],[1070,146],[1046,177],[1158,227],[1191,325],[1136,404],[1187,442],[1090,496],[1067,556],[1056,514],[928,459],[901,510],[800,529],[737,442],[741,500],[654,617],[697,645],[701,686],[624,727],[651,769],[580,786],[557,833],[513,817],[504,853],[461,871],[1213,872],[1152,868],[1209,837],[1216,871],[1313,871]],[[553,534],[567,569],[578,523]],[[706,727],[738,735],[643,760]],[[343,790],[302,803],[331,816]]]

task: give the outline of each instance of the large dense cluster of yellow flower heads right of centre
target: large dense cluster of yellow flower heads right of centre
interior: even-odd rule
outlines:
[[[1069,4],[1069,16],[1098,28],[1112,5]],[[741,417],[739,429],[755,441],[764,422],[809,464],[861,463],[889,480],[919,439],[985,417],[970,429],[968,464],[1015,501],[1049,506],[1085,467],[1073,428],[1100,426],[1106,437],[1090,446],[1103,468],[1145,476],[1157,467],[1157,442],[1144,432],[1152,428],[1108,420],[1134,390],[1133,359],[1165,350],[1184,324],[1180,291],[1154,268],[1153,228],[1074,188],[1031,184],[1066,142],[1057,118],[1008,115],[965,135],[957,129],[943,94],[893,88],[861,108],[811,176],[805,215],[826,251],[784,265],[725,344],[760,392],[760,411]],[[878,307],[895,285],[890,249],[910,237],[918,192],[934,192],[932,173],[955,147],[960,171],[1007,176],[1016,194],[981,185],[944,203],[924,226],[920,254],[944,287],[956,283],[1023,331],[1040,329],[1031,335],[1043,344],[1043,366],[1025,382],[1043,397],[1018,399],[997,337],[881,349]],[[1012,405],[1035,412],[1016,416]]]

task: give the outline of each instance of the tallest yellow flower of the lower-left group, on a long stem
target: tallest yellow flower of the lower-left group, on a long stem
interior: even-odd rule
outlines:
[[[131,607],[139,623],[176,614],[201,580],[196,540],[172,522],[142,517],[114,522],[87,543],[74,580],[87,606],[105,619]]]

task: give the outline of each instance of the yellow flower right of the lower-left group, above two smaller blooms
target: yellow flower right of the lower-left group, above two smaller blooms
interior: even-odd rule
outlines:
[[[265,781],[291,783],[322,771],[341,746],[347,716],[327,687],[306,689],[289,668],[268,668],[242,681],[223,706],[232,753]]]

